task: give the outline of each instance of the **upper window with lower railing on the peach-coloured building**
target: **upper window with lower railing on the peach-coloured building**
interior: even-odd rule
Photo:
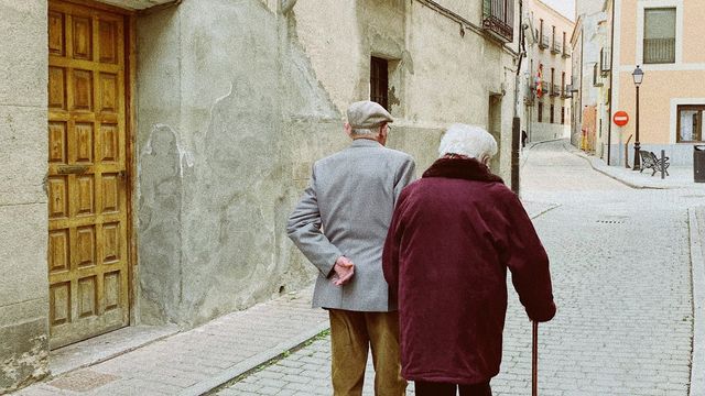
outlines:
[[[675,9],[643,12],[643,63],[675,63]]]

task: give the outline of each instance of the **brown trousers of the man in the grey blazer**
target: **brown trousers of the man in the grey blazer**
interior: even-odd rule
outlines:
[[[398,312],[329,309],[334,396],[360,396],[369,348],[375,364],[375,395],[403,396]]]

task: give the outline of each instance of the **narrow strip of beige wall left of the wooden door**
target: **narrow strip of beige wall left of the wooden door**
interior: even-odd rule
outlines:
[[[47,373],[46,1],[0,1],[0,394]]]

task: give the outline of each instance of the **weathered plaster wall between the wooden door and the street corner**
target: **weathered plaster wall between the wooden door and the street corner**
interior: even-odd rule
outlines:
[[[300,0],[281,14],[275,1],[185,0],[138,18],[142,322],[193,326],[312,279],[284,223],[313,162],[349,144],[370,55],[390,61],[389,146],[421,173],[444,128],[477,123],[509,178],[512,56],[415,1]]]

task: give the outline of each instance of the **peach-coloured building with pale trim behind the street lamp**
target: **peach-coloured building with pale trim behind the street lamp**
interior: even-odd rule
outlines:
[[[690,165],[693,145],[705,142],[705,1],[611,0],[614,6],[611,114],[627,111],[623,128],[611,125],[611,162],[623,164],[623,142],[636,140],[637,65],[642,150],[662,148],[673,165]],[[611,121],[610,121],[611,122]],[[629,150],[632,163],[633,150]]]

